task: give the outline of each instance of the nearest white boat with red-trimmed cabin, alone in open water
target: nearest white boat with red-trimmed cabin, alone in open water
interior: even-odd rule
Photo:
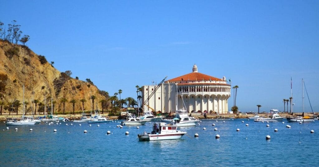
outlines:
[[[181,139],[187,132],[178,131],[176,126],[165,125],[165,123],[154,123],[151,133],[138,134],[139,141],[150,140],[176,140]]]

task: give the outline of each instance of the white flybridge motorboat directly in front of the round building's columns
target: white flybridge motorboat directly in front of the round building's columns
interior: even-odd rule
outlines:
[[[199,123],[198,119],[189,117],[188,112],[182,109],[176,110],[176,118],[174,120],[174,126],[196,126]]]

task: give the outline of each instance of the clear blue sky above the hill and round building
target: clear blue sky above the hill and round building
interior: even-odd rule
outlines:
[[[301,111],[303,78],[319,112],[319,1],[2,0],[0,8],[0,21],[17,20],[35,53],[110,95],[122,89],[121,97],[136,98],[136,85],[196,64],[239,86],[241,111],[284,110],[291,78]]]

